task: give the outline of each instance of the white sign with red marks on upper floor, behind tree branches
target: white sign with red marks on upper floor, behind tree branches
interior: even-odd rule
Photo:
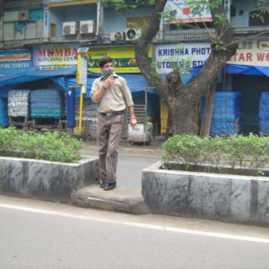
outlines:
[[[202,0],[196,0],[195,2],[198,4],[198,2],[202,2]],[[213,21],[207,6],[204,6],[204,9],[197,13],[185,0],[168,0],[165,5],[165,12],[169,13],[169,16],[172,17],[169,23]]]

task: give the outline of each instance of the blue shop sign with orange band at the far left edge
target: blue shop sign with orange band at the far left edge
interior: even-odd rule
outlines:
[[[0,74],[22,73],[31,66],[30,50],[0,52]]]

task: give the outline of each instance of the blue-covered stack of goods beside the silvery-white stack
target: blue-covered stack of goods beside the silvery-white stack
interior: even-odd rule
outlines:
[[[30,117],[62,118],[65,116],[64,93],[54,89],[30,92]]]

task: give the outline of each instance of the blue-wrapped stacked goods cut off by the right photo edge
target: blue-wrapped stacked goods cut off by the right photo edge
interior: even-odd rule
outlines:
[[[263,91],[260,96],[259,132],[269,134],[269,91]]]

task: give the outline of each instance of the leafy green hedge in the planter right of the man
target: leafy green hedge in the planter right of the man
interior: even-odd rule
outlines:
[[[249,134],[229,137],[196,135],[174,135],[163,148],[163,160],[168,166],[175,161],[186,166],[208,165],[231,168],[259,169],[269,164],[269,137]]]

